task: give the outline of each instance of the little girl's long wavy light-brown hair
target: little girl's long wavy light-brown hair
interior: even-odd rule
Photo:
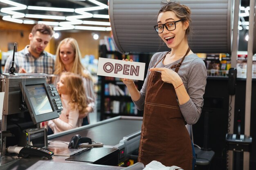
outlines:
[[[78,107],[79,114],[83,114],[86,111],[87,99],[85,95],[85,89],[83,88],[83,79],[80,75],[64,72],[61,75],[64,75],[65,85],[69,89],[69,94],[71,96],[71,102],[69,103],[71,109],[74,109],[75,106]]]

